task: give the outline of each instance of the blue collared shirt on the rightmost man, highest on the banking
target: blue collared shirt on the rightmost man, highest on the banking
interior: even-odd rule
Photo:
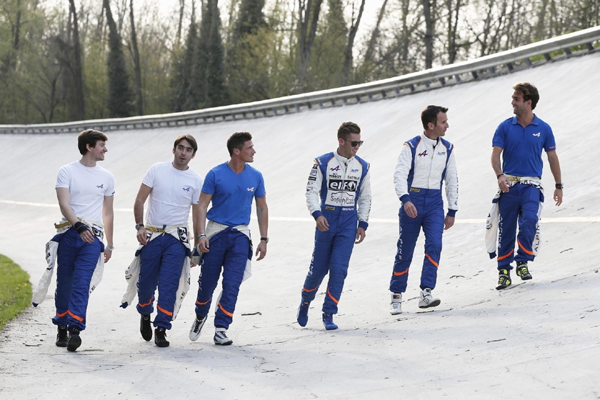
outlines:
[[[534,115],[531,124],[523,127],[516,116],[502,121],[496,129],[492,146],[502,151],[502,171],[514,176],[538,176],[544,166],[541,150],[556,150],[554,134],[549,124]]]

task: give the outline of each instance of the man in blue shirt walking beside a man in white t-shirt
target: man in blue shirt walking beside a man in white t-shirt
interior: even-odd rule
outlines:
[[[259,220],[261,240],[256,248],[256,261],[266,256],[269,242],[267,228],[269,211],[266,206],[266,190],[262,174],[246,163],[254,161],[254,144],[248,132],[236,132],[227,140],[231,159],[215,166],[206,174],[200,194],[199,244],[196,251],[202,253],[199,289],[196,298],[196,319],[191,324],[189,338],[200,336],[211,306],[212,295],[223,268],[223,291],[217,299],[214,317],[214,343],[233,343],[226,335],[233,321],[239,286],[250,276],[252,242],[250,240],[250,213],[252,199],[256,199],[256,215]],[[211,209],[206,212],[212,201]],[[208,224],[206,224],[208,219]],[[206,225],[206,229],[205,229]]]

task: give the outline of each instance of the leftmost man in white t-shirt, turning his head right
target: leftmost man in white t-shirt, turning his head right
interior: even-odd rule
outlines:
[[[100,131],[82,131],[77,138],[81,159],[62,166],[56,179],[63,219],[55,224],[59,234],[51,240],[59,244],[52,323],[59,331],[56,346],[69,351],[81,346],[79,334],[86,329],[89,294],[95,288],[92,276],[101,276],[113,251],[114,176],[96,165],[104,161],[108,140]]]

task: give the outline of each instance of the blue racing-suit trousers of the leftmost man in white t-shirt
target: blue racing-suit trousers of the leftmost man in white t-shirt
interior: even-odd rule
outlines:
[[[101,253],[98,238],[86,243],[76,229],[63,234],[56,255],[56,316],[55,325],[86,329],[86,311],[89,301],[89,286]]]

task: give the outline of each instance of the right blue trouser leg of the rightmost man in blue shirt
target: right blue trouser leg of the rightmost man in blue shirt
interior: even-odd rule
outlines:
[[[516,238],[515,261],[534,261],[532,249],[537,229],[541,192],[531,185],[524,186],[521,194],[521,212],[519,213],[519,234]]]

